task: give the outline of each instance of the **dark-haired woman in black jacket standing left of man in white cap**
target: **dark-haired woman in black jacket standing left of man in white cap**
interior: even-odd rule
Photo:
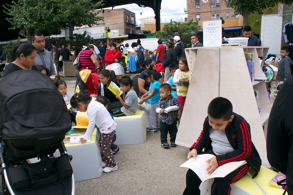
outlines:
[[[167,41],[166,43],[166,52],[163,56],[163,68],[165,68],[165,76],[164,82],[166,83],[171,77],[169,66],[174,63],[176,59],[175,51],[173,50],[173,43],[171,41]]]

